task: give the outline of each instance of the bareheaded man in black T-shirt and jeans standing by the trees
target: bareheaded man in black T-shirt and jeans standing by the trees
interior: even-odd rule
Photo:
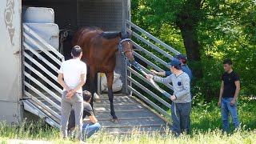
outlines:
[[[218,106],[222,107],[222,129],[229,130],[229,113],[234,124],[234,128],[239,128],[237,98],[240,91],[240,81],[238,74],[232,69],[232,61],[223,61],[225,73],[222,74],[222,85],[219,94]]]

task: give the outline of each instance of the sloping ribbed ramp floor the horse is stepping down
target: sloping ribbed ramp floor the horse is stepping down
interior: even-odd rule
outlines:
[[[108,134],[140,134],[169,130],[170,123],[133,96],[114,94],[114,111],[118,123],[112,122],[110,102],[107,94],[100,96],[101,102],[94,102],[94,114]]]

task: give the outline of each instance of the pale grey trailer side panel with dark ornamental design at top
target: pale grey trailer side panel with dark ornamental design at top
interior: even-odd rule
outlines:
[[[0,121],[21,119],[21,0],[0,1]]]

